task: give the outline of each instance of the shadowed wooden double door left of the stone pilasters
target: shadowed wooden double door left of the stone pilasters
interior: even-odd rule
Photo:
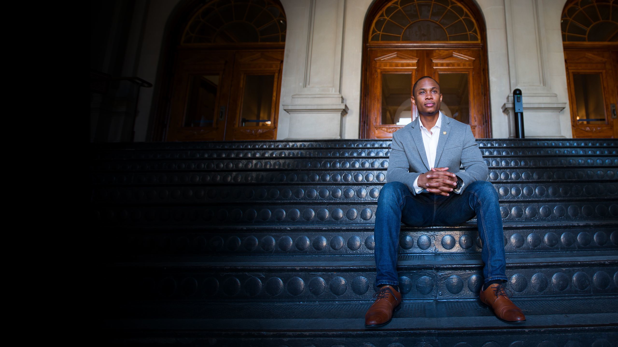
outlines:
[[[179,51],[167,141],[274,140],[282,49]]]

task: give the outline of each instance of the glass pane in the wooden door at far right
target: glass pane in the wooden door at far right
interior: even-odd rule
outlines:
[[[605,124],[605,100],[600,73],[574,73],[578,124]]]

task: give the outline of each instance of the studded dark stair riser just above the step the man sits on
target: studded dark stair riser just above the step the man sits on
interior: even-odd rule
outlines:
[[[294,204],[269,201],[257,206],[217,204],[105,204],[92,203],[94,224],[110,225],[350,225],[374,224],[376,203]],[[618,217],[618,200],[506,201],[500,211],[504,222],[591,222]]]

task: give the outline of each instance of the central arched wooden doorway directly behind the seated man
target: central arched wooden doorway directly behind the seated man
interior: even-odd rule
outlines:
[[[416,117],[418,77],[436,79],[441,111],[491,136],[485,24],[466,0],[384,0],[363,33],[361,138],[390,138]]]

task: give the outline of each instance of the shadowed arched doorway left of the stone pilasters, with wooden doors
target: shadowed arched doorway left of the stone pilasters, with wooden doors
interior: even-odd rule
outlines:
[[[287,25],[281,3],[212,0],[190,10],[174,47],[170,99],[162,100],[166,140],[273,140]]]

